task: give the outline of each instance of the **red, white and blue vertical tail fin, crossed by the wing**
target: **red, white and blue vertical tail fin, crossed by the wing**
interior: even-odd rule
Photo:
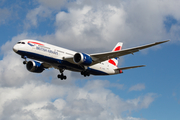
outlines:
[[[114,49],[112,51],[119,51],[119,50],[121,50],[122,49],[122,45],[123,45],[122,42],[118,42],[117,45],[114,47]],[[110,60],[108,60],[108,62],[117,67],[117,65],[118,65],[118,58],[110,59]]]

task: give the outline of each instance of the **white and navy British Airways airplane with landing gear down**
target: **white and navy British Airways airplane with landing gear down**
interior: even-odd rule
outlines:
[[[24,39],[14,45],[13,51],[25,59],[23,64],[26,64],[28,71],[42,73],[45,69],[55,68],[61,73],[57,77],[66,80],[67,77],[63,74],[64,70],[80,72],[81,75],[86,77],[90,75],[121,74],[123,70],[144,67],[145,65],[118,68],[118,58],[168,41],[155,42],[129,49],[122,49],[123,43],[118,42],[110,52],[87,54],[37,40]],[[27,61],[27,58],[32,60]]]

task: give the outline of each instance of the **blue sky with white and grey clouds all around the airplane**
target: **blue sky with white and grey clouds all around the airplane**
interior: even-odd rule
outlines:
[[[180,1],[1,0],[1,120],[180,120]],[[30,73],[12,51],[25,38],[75,51],[111,51],[171,39],[121,57],[115,76]]]

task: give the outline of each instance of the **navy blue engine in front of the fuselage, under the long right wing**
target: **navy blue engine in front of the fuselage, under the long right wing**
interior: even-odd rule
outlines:
[[[74,62],[76,64],[82,64],[82,65],[90,65],[92,63],[92,58],[84,53],[76,53],[74,55]]]

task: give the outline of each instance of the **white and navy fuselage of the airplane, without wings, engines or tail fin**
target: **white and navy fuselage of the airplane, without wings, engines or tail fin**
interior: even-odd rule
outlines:
[[[63,67],[72,71],[82,71],[80,69],[82,68],[81,65],[75,62],[72,64],[64,61],[65,58],[73,57],[77,53],[75,51],[30,39],[21,40],[19,43],[21,44],[17,43],[13,50],[21,56],[27,56],[28,58],[50,64],[56,69]],[[93,72],[90,74],[112,75],[116,74],[114,69],[117,69],[117,66],[109,63],[107,60],[92,66],[84,66],[84,68],[92,70]]]

